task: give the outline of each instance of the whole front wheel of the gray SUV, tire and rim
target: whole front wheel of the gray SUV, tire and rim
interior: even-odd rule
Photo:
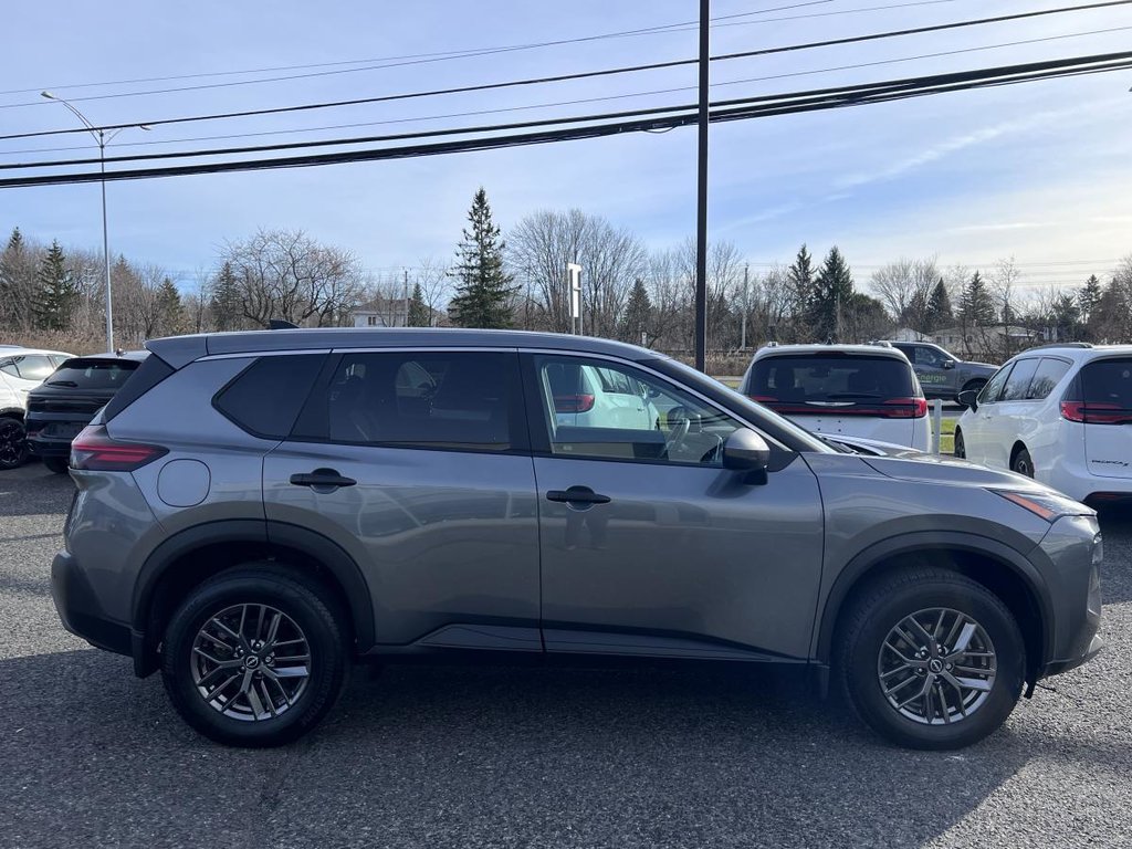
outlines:
[[[983,739],[1010,715],[1024,679],[1026,648],[1010,610],[945,569],[904,569],[873,583],[838,638],[838,672],[857,714],[911,748]]]

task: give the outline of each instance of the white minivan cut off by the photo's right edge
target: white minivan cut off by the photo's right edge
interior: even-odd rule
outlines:
[[[1132,496],[1132,345],[1031,349],[960,403],[957,456],[1078,500]]]

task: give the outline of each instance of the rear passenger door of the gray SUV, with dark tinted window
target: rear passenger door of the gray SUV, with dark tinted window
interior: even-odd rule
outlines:
[[[265,458],[267,518],[353,557],[379,644],[541,651],[521,396],[515,352],[343,353]]]

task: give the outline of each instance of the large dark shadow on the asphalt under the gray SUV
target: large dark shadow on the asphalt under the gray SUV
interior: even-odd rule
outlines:
[[[893,748],[751,669],[358,668],[319,729],[258,752],[93,650],[0,661],[0,704],[14,844],[920,846],[1032,749],[1011,727]]]

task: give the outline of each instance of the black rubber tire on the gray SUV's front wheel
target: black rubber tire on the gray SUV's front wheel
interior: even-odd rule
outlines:
[[[881,670],[890,662],[891,654],[897,649],[909,651],[899,637],[893,638],[895,628],[904,626],[909,617],[918,612],[931,625],[938,611],[950,611],[957,617],[962,615],[981,629],[968,638],[968,645],[988,642],[994,660],[974,659],[967,654],[962,655],[962,660],[975,664],[993,662],[995,668],[993,672],[981,670],[981,676],[962,677],[962,681],[977,679],[987,688],[985,692],[972,689],[964,696],[960,687],[947,683],[945,675],[957,681],[960,679],[954,676],[967,676],[966,667],[962,670],[959,668],[960,660],[953,660],[953,666],[947,667],[953,671],[938,677],[928,669],[923,676],[919,671],[908,672],[911,677],[904,683],[911,686],[907,689],[899,689],[903,686],[899,677],[890,677],[882,683]],[[949,631],[946,620],[940,631]],[[957,650],[962,633],[959,640],[945,648]],[[952,636],[941,634],[936,638],[946,641]],[[842,693],[855,712],[878,735],[909,748],[962,748],[993,734],[1014,709],[1026,677],[1026,644],[1010,610],[981,584],[946,569],[908,568],[873,582],[852,600],[837,638],[835,672]],[[900,644],[890,652],[893,641]],[[925,666],[936,659],[944,660],[942,654],[936,658],[935,649],[931,652],[931,660],[919,660],[919,657],[912,654],[916,663]],[[900,661],[894,664],[909,666]],[[885,675],[891,676],[892,672]],[[929,676],[932,681],[927,680]],[[885,687],[890,687],[887,693]],[[925,691],[926,698],[917,697],[920,688]],[[901,712],[901,705],[895,700],[903,702],[909,695],[917,701]],[[894,701],[890,701],[890,696]],[[960,714],[960,702],[967,697],[972,701],[966,704],[963,710],[967,712]],[[949,722],[944,721],[944,714],[950,715]]]

